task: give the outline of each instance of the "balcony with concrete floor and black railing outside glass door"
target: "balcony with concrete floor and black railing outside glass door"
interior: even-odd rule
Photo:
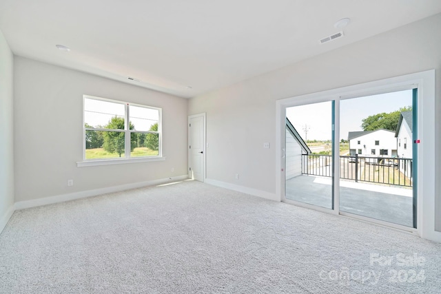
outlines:
[[[409,158],[340,156],[340,211],[413,227]],[[332,158],[302,155],[300,176],[287,179],[286,198],[332,208]]]

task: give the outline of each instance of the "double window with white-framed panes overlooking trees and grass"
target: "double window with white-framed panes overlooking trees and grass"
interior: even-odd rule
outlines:
[[[161,156],[161,108],[84,95],[85,160]]]

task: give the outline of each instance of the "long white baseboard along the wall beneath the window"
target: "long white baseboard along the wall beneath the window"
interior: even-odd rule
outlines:
[[[165,184],[166,182],[185,180],[187,178],[188,178],[188,175],[175,176],[172,178],[148,180],[146,182],[134,182],[131,184],[126,184],[126,185],[105,187],[105,188],[101,188],[101,189],[94,189],[94,190],[88,190],[88,191],[79,191],[79,192],[68,193],[68,194],[57,195],[57,196],[50,196],[50,197],[39,198],[39,199],[34,199],[34,200],[19,201],[19,202],[15,202],[14,210],[26,209],[26,208],[30,208],[30,207],[39,207],[42,205],[65,202],[65,201],[76,200],[76,199],[81,199],[81,198],[87,198],[87,197],[91,197],[91,196],[98,196],[98,195],[102,195],[105,193],[114,193],[114,192],[124,191],[124,190],[128,190],[128,189],[136,189],[136,188],[141,188],[141,187],[146,187],[146,186],[161,185],[161,184]]]

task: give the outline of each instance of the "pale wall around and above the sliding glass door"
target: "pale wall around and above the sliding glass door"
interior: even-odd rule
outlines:
[[[192,98],[189,114],[207,113],[207,178],[276,192],[276,100],[356,85],[424,70],[436,70],[435,113],[441,113],[441,14],[373,36],[337,50]],[[440,146],[441,116],[436,116]],[[440,178],[440,154],[435,154]],[[435,187],[437,228],[441,231],[440,181]],[[277,200],[277,197],[274,197]]]

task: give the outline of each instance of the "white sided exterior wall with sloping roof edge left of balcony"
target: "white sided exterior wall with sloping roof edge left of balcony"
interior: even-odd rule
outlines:
[[[302,174],[302,154],[310,154],[311,150],[288,118],[286,122],[286,179],[289,180]]]

